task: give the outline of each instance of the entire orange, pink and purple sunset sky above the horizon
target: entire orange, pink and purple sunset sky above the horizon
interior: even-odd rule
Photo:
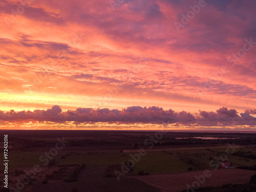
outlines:
[[[256,128],[253,0],[0,5],[0,129]]]

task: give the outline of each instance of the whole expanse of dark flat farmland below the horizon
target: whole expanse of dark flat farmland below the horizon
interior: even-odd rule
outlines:
[[[148,142],[155,132],[7,132],[12,146],[9,185],[15,188],[35,165],[40,167],[20,191],[180,191],[205,169],[212,176],[202,186],[219,186],[231,180],[246,183],[255,172],[237,168],[255,167],[254,134],[170,132],[157,142]],[[65,141],[63,146],[59,140]],[[232,168],[221,168],[223,161],[231,162]],[[123,165],[128,162],[132,165],[124,173]],[[116,177],[116,170],[120,177]],[[233,178],[237,174],[243,177]],[[4,176],[3,170],[0,175]],[[222,177],[228,179],[218,180]]]

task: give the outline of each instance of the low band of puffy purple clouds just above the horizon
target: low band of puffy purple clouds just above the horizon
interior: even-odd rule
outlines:
[[[220,108],[216,112],[200,111],[199,115],[192,115],[188,112],[174,112],[173,110],[163,110],[158,106],[144,107],[130,106],[123,110],[110,110],[92,108],[78,108],[63,112],[58,105],[51,109],[35,111],[10,112],[0,111],[0,119],[8,122],[67,122],[79,123],[151,123],[151,124],[182,124],[188,126],[230,126],[230,125],[256,125],[256,118],[248,110],[240,115],[234,109]]]

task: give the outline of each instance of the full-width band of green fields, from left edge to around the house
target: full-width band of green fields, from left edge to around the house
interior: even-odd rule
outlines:
[[[253,147],[238,148],[237,151],[255,154]],[[44,166],[39,160],[39,157],[44,155],[44,151],[39,152],[17,152],[9,153],[9,169],[18,169],[25,167],[33,167],[38,164]],[[137,174],[140,170],[145,173],[169,173],[169,172],[184,172],[188,167],[193,170],[215,168],[209,165],[211,160],[220,158],[220,154],[225,153],[225,148],[212,149],[212,150],[180,150],[180,151],[157,151],[147,152],[145,156],[141,156],[138,162],[135,162],[132,174]],[[3,156],[3,153],[0,153]],[[108,166],[112,164],[125,163],[127,160],[132,159],[130,154],[115,151],[95,151],[95,153],[83,152],[82,150],[76,151],[58,151],[54,157],[56,166],[85,164],[87,166]],[[228,161],[232,166],[254,166],[256,160],[248,159],[237,156],[228,156]],[[44,161],[45,162],[45,161]]]

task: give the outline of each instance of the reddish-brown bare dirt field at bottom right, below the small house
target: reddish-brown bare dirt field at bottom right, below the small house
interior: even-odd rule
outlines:
[[[156,174],[148,176],[138,176],[137,179],[160,188],[163,192],[181,191],[197,181],[195,176],[203,175],[203,170],[173,174]],[[240,184],[249,182],[250,177],[255,174],[254,170],[244,170],[237,168],[210,170],[211,176],[205,178],[205,182],[200,187],[221,186],[223,184]]]

